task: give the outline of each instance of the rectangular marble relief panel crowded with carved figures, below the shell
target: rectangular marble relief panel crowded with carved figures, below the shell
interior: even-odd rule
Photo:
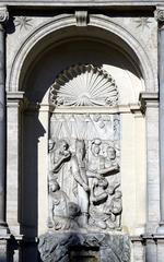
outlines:
[[[119,115],[52,114],[48,227],[120,230],[119,162]]]

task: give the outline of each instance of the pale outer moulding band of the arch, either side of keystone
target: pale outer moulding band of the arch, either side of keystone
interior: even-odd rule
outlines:
[[[20,85],[22,68],[25,64],[28,55],[34,50],[34,47],[46,39],[49,34],[62,32],[62,29],[69,29],[73,26],[77,26],[75,15],[61,14],[47,20],[47,22],[44,22],[42,25],[31,32],[26,39],[20,45],[20,48],[13,59],[10,74],[7,78],[7,90],[9,92],[22,91]],[[147,55],[147,51],[127,29],[110,21],[110,19],[106,15],[102,14],[91,14],[87,26],[101,28],[104,32],[112,33],[119,37],[119,39],[124,41],[138,58],[140,70],[145,83],[145,90],[151,92],[155,92],[157,90],[157,78],[153,71],[153,67],[149,56]]]

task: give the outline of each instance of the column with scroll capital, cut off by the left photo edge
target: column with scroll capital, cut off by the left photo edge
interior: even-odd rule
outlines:
[[[5,7],[0,7],[0,235],[8,233],[5,222],[5,179],[7,179],[7,108],[5,108],[5,44],[4,22],[8,19]]]

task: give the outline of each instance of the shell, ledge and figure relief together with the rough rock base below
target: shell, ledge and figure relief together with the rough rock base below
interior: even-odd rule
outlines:
[[[72,66],[51,85],[49,104],[48,233],[40,236],[42,261],[130,261],[129,238],[121,233],[115,80],[93,64]]]

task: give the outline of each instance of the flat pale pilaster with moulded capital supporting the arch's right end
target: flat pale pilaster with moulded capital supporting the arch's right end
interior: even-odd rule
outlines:
[[[159,94],[140,95],[147,133],[147,234],[156,233],[160,219]]]

